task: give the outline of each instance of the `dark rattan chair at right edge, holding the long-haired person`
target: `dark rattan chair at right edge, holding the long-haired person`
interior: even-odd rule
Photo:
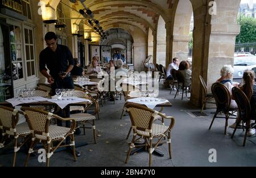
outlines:
[[[250,120],[253,120],[254,113],[251,113],[250,101],[248,100],[245,93],[242,90],[240,90],[240,88],[233,87],[232,96],[237,103],[239,117],[231,138],[234,137],[234,134],[236,133],[236,130],[237,130],[237,126],[242,126],[242,128],[246,128],[245,137],[243,138],[243,146],[245,146],[246,137],[249,129],[253,127],[255,128],[255,123],[254,124],[250,123]],[[242,121],[242,125],[240,125],[241,121]],[[246,125],[244,126],[243,123],[246,123]]]

